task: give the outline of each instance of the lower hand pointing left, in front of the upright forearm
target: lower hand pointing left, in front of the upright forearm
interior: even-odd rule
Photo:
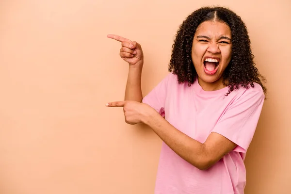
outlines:
[[[158,113],[149,105],[136,101],[119,101],[106,104],[107,107],[123,107],[125,122],[131,125],[146,123],[150,116]]]

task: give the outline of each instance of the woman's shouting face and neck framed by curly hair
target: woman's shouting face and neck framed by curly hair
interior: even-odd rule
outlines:
[[[231,59],[231,31],[219,21],[201,23],[194,34],[192,61],[204,90],[224,87],[222,75]]]

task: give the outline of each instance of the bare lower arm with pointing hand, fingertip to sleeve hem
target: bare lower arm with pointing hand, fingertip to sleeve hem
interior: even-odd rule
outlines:
[[[236,145],[218,133],[211,133],[204,144],[182,133],[166,121],[155,109],[145,103],[117,101],[108,107],[123,107],[128,124],[145,123],[185,161],[200,170],[210,168]]]

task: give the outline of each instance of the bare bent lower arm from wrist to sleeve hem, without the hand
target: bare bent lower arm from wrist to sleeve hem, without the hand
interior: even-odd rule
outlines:
[[[214,132],[210,133],[202,144],[173,127],[158,113],[145,118],[144,123],[151,127],[165,144],[200,170],[210,168],[236,146],[235,143]]]

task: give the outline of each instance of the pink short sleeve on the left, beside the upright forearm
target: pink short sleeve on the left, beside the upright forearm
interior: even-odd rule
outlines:
[[[167,96],[167,86],[169,77],[172,73],[169,73],[162,81],[156,85],[144,98],[143,103],[148,104],[154,108],[158,113],[164,116],[164,107]]]

